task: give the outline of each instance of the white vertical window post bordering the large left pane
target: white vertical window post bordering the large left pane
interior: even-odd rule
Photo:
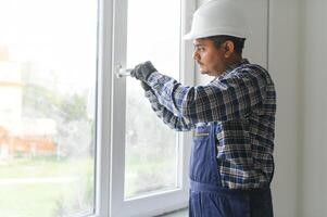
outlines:
[[[97,162],[95,217],[110,216],[113,1],[98,0]],[[108,85],[109,84],[109,85]]]

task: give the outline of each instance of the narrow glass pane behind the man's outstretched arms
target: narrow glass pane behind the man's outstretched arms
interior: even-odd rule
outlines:
[[[180,1],[128,1],[127,67],[150,60],[179,77]],[[127,79],[125,197],[177,187],[177,133],[152,112],[139,81]]]

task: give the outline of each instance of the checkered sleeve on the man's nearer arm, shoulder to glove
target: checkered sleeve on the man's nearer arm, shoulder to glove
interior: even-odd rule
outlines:
[[[186,124],[246,117],[263,104],[267,86],[266,75],[251,68],[231,72],[206,86],[186,87],[158,72],[147,82],[160,104],[184,117]]]

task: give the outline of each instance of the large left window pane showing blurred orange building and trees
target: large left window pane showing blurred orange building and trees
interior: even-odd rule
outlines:
[[[93,213],[97,7],[0,2],[0,216]]]

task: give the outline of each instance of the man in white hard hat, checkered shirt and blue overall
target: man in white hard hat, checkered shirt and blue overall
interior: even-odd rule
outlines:
[[[266,69],[242,59],[246,18],[231,0],[212,0],[193,16],[200,72],[214,79],[185,87],[151,62],[137,65],[156,115],[178,131],[193,130],[191,217],[271,217],[276,92]]]

